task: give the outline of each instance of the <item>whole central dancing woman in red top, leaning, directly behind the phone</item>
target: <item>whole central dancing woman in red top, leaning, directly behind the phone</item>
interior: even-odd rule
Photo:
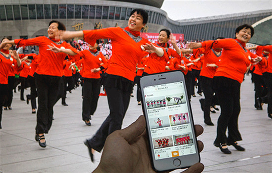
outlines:
[[[92,149],[100,152],[107,136],[113,131],[121,129],[134,85],[136,65],[148,53],[158,57],[165,56],[162,48],[155,47],[147,39],[140,37],[140,31],[147,23],[147,19],[146,11],[134,9],[130,14],[128,27],[124,29],[111,27],[98,30],[67,31],[61,34],[64,39],[84,37],[84,40],[91,45],[101,38],[109,38],[112,41],[112,56],[102,78],[102,84],[108,97],[110,114],[93,138],[84,142],[89,148],[92,161]]]

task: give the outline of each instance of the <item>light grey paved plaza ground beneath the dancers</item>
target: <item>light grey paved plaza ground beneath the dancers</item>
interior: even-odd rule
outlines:
[[[25,91],[28,94],[30,89]],[[204,127],[204,134],[198,139],[204,143],[201,162],[207,173],[272,173],[272,119],[267,116],[267,105],[264,110],[254,108],[254,85],[250,76],[245,77],[241,87],[241,113],[239,130],[246,151],[241,152],[230,146],[231,155],[223,154],[213,146],[216,136],[218,111],[211,114],[215,126],[206,126],[199,99],[191,101],[195,124]],[[83,144],[100,127],[109,113],[107,98],[99,98],[97,110],[92,116],[91,126],[86,126],[81,118],[81,87],[67,93],[67,104],[59,101],[54,107],[53,125],[49,134],[45,134],[47,147],[41,148],[34,139],[36,114],[31,114],[31,106],[20,101],[20,94],[14,93],[12,110],[3,111],[0,130],[0,172],[2,173],[90,173],[100,160],[101,154],[96,152],[95,162],[91,163],[87,147]],[[127,127],[142,114],[134,97],[123,121]],[[178,172],[176,170],[174,172]]]

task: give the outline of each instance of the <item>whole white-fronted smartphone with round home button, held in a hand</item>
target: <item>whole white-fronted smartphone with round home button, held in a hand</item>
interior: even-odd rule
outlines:
[[[154,169],[174,170],[200,162],[183,73],[143,76],[140,91]]]

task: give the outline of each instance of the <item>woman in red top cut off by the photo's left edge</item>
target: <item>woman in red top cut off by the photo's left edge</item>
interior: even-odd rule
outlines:
[[[4,37],[1,43],[11,40],[9,37]],[[13,54],[9,53],[11,44],[5,44],[0,48],[0,129],[2,129],[2,113],[3,113],[3,102],[7,98],[8,93],[8,74],[10,69],[13,72],[21,70],[21,60],[16,51],[12,51]],[[13,55],[13,56],[11,56]]]

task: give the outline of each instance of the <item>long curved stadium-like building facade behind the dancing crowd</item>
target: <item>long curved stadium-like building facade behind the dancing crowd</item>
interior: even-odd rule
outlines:
[[[0,36],[46,36],[51,20],[61,21],[71,31],[126,27],[130,12],[142,8],[149,14],[143,32],[168,28],[173,33],[183,33],[185,40],[211,40],[219,36],[233,38],[237,26],[253,25],[272,15],[272,10],[263,10],[174,21],[160,9],[162,3],[163,0],[1,0]]]

